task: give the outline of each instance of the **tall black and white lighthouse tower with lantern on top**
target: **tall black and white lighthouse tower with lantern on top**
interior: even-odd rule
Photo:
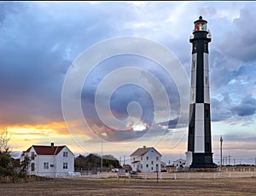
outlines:
[[[190,167],[215,167],[212,162],[208,65],[208,43],[211,42],[211,33],[207,30],[207,20],[203,20],[201,16],[194,24],[193,35],[189,39],[193,47],[188,135],[188,152],[192,155]]]

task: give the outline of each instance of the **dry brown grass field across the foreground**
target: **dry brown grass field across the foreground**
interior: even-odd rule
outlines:
[[[48,181],[0,184],[1,196],[14,195],[256,195],[256,178],[88,179],[54,178]]]

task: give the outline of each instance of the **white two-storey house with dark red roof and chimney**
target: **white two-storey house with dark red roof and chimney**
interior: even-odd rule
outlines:
[[[37,176],[68,176],[74,171],[74,154],[67,146],[32,145],[22,152],[20,162],[30,158],[27,173]]]

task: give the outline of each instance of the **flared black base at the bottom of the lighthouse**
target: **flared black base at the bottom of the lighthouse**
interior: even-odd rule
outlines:
[[[193,153],[190,168],[216,168],[212,162],[213,153]]]

